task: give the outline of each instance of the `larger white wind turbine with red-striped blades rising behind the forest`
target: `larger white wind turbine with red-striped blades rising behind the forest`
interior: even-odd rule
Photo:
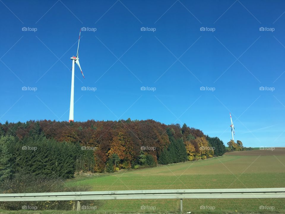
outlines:
[[[77,46],[77,54],[76,56],[72,56],[70,57],[70,59],[72,60],[72,75],[71,75],[71,93],[70,93],[70,108],[69,108],[69,120],[68,122],[73,122],[73,110],[74,110],[74,65],[75,63],[78,65],[82,75],[83,72],[81,70],[80,64],[79,64],[79,58],[78,58],[78,49],[79,49],[79,41],[80,41],[80,33],[81,33],[81,29],[79,32],[79,39],[78,39],[78,46]],[[85,79],[84,75],[83,78]]]

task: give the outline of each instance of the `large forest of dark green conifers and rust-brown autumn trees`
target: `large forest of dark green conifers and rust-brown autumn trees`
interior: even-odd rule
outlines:
[[[0,124],[0,181],[21,175],[71,178],[220,156],[223,142],[186,124],[154,120]]]

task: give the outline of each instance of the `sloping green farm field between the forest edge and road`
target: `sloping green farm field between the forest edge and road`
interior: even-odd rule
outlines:
[[[229,152],[222,157],[208,160],[77,178],[67,181],[66,185],[88,185],[90,191],[285,187],[285,149]],[[98,202],[97,212],[143,212],[144,210],[140,210],[142,205],[156,207],[155,210],[149,210],[156,213],[179,210],[179,200],[176,199],[106,200]],[[285,199],[184,199],[183,211],[211,213],[213,210],[200,209],[200,206],[209,206],[215,207],[215,212],[264,212],[259,207],[265,205],[274,207],[273,212],[285,211]]]

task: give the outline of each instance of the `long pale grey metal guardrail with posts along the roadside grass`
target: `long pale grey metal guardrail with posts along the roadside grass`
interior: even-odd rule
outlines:
[[[0,201],[77,201],[80,200],[118,200],[118,199],[248,199],[248,198],[285,198],[285,188],[254,189],[170,189],[170,190],[133,190],[133,191],[90,191],[90,192],[53,192],[53,193],[11,193],[0,194]]]

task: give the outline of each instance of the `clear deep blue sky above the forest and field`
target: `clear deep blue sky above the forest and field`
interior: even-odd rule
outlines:
[[[85,79],[75,67],[75,121],[185,122],[227,143],[231,112],[235,140],[284,146],[284,11],[284,1],[1,0],[0,122],[68,120],[69,58],[89,27],[96,31],[82,31],[79,48]]]

